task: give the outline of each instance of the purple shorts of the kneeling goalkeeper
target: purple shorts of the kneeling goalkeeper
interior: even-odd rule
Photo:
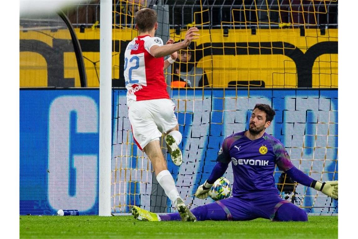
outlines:
[[[277,209],[285,203],[291,202],[282,199],[275,192],[248,193],[240,197],[229,197],[228,199],[214,202],[226,212],[229,221],[253,220],[256,218],[273,220]]]

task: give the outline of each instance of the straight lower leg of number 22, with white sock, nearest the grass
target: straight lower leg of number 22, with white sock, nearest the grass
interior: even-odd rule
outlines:
[[[179,196],[178,191],[176,190],[173,176],[171,176],[170,172],[168,171],[166,162],[161,152],[159,139],[148,143],[144,147],[144,152],[149,157],[153,165],[155,175],[160,186],[164,189],[165,194],[169,197],[169,199],[178,209],[182,220],[196,221],[197,219],[192,214],[192,212],[190,212],[188,207],[184,204],[183,200]]]

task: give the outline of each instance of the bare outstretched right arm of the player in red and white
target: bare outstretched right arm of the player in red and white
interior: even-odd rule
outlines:
[[[175,43],[175,44],[167,44],[164,46],[154,45],[150,48],[150,54],[156,58],[168,56],[180,49],[184,49],[189,46],[192,40],[198,39],[199,31],[196,27],[189,28],[188,32],[185,34],[185,38],[183,41]]]

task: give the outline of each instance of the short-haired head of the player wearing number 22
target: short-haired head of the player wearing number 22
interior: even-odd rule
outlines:
[[[139,32],[150,31],[154,28],[155,23],[158,21],[158,16],[156,12],[150,8],[143,8],[137,11],[134,17]]]

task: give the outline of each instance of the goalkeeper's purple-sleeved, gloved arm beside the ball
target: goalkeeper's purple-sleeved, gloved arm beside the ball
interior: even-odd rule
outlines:
[[[195,192],[195,197],[199,199],[205,199],[208,197],[211,186],[213,186],[214,182],[218,178],[224,175],[228,166],[228,163],[217,162],[208,180],[198,187],[197,191]]]

